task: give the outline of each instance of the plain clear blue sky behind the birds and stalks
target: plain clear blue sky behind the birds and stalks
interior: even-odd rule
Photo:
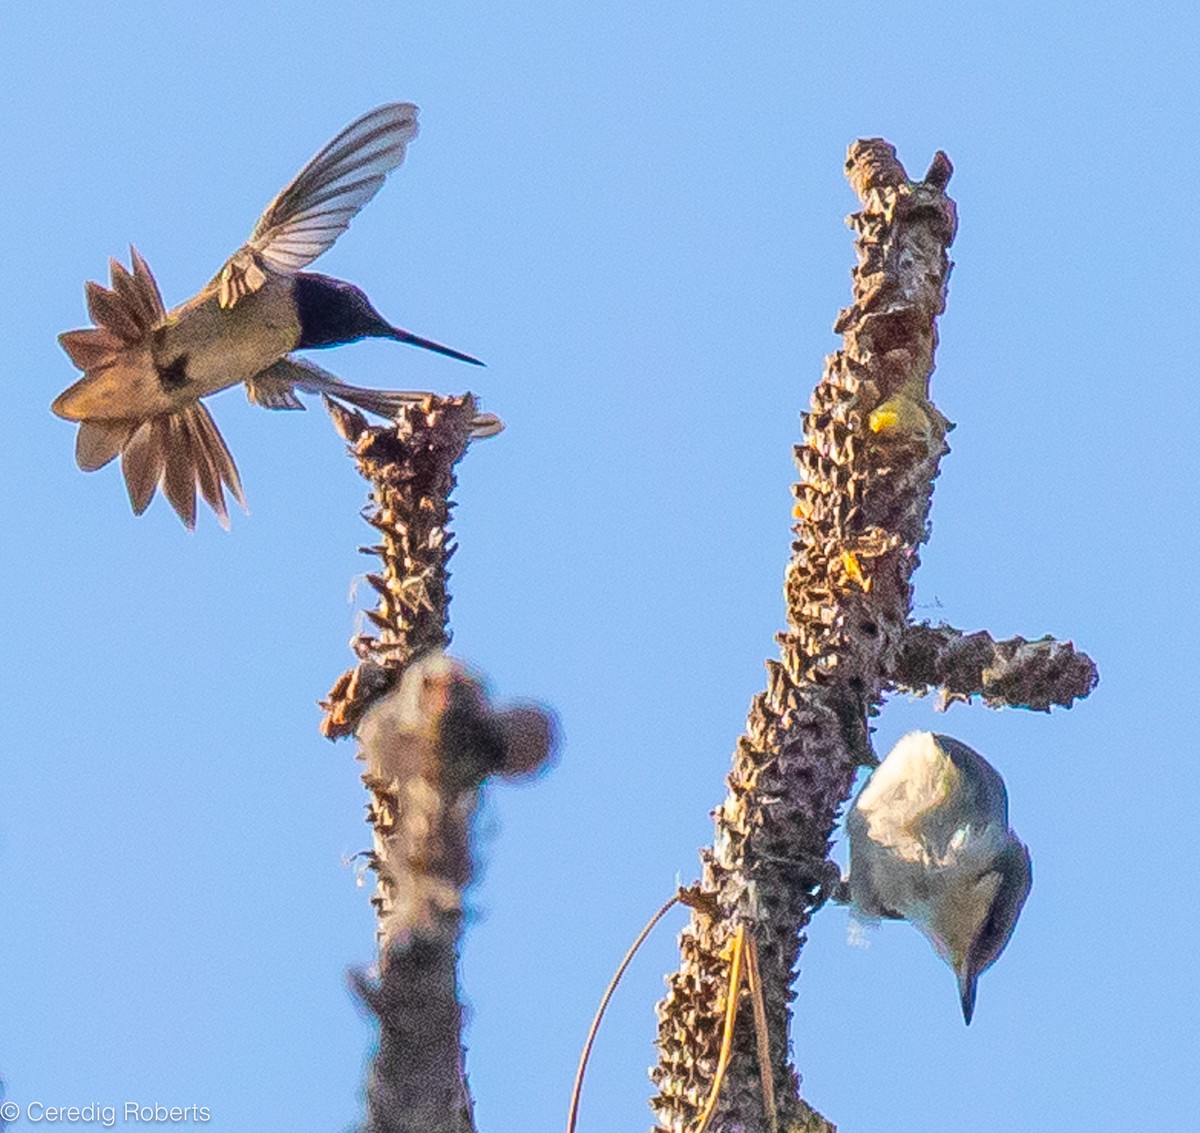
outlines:
[[[1052,7],[1052,11],[1046,11]],[[337,1129],[371,1031],[346,667],[364,486],[324,414],[210,402],[251,515],[186,533],[84,475],[50,398],[83,281],[133,241],[194,292],[329,137],[421,107],[320,269],[479,372],[394,343],[347,380],[470,388],[508,431],[461,467],[454,630],[559,712],[499,786],[463,958],[482,1129],[562,1127],[629,940],[696,874],[782,623],[791,445],[853,260],[841,166],[944,149],[960,208],[934,379],[954,421],[922,617],[1051,633],[1102,684],[1051,717],[896,701],[1006,775],[1034,888],[980,982],[906,925],[812,927],[793,1042],[845,1133],[1193,1120],[1193,641],[1200,618],[1183,4],[10,5],[0,14],[0,1074],[22,1104],[206,1105]],[[618,994],[581,1131],[649,1123],[660,929]],[[18,1126],[20,1128],[22,1126]]]

